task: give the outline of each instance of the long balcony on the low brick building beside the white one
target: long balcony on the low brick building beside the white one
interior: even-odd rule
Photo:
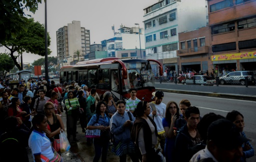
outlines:
[[[177,50],[177,56],[194,55],[208,53],[208,46],[199,46],[194,48]]]

